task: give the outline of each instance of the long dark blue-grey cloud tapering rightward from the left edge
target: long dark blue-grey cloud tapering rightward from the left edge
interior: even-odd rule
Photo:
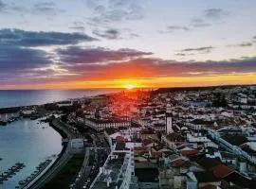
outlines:
[[[81,33],[62,33],[45,31],[25,31],[21,29],[0,29],[0,44],[17,46],[46,46],[58,44],[77,44],[97,39]]]

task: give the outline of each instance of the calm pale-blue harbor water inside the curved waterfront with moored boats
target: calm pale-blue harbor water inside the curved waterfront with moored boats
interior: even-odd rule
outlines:
[[[19,172],[1,177],[0,188],[27,188],[56,162],[62,149],[59,132],[40,120],[21,117],[6,127],[0,126],[0,173],[5,175],[15,163],[26,164]],[[19,184],[21,180],[23,184]]]

